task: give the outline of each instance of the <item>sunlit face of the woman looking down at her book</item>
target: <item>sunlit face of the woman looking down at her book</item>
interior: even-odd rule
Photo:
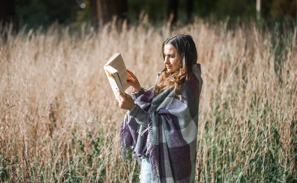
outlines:
[[[182,66],[181,57],[174,46],[170,44],[164,45],[163,54],[167,72],[173,73]]]

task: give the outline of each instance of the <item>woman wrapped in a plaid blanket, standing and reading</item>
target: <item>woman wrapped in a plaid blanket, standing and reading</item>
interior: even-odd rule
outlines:
[[[202,87],[193,38],[178,34],[162,45],[164,69],[144,91],[128,71],[132,96],[119,92],[129,110],[120,129],[123,156],[132,145],[141,163],[141,183],[194,183],[199,96]]]

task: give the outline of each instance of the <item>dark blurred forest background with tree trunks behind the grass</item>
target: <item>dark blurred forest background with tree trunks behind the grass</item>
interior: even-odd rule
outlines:
[[[154,25],[168,21],[187,24],[195,17],[231,23],[258,20],[265,25],[297,21],[297,0],[1,0],[0,20],[15,29],[48,27],[53,22],[71,27],[86,22],[99,27],[114,15],[137,23],[141,12]],[[257,13],[258,12],[258,13]]]

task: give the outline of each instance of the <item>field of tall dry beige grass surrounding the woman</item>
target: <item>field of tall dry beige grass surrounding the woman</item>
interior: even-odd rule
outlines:
[[[204,82],[197,182],[297,181],[297,28],[277,35],[197,21],[171,31],[143,21],[121,29],[0,36],[2,181],[137,182],[131,153],[120,158],[125,111],[102,67],[121,52],[149,88],[163,68],[161,44],[175,33],[193,36]]]

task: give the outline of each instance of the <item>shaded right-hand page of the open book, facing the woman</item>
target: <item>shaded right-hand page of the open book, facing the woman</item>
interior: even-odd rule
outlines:
[[[124,91],[129,88],[129,84],[127,82],[128,79],[128,74],[127,74],[127,69],[124,63],[124,60],[122,58],[122,55],[119,54],[117,57],[114,58],[108,65],[113,67],[118,71],[119,78],[121,81],[121,84],[123,86]]]

